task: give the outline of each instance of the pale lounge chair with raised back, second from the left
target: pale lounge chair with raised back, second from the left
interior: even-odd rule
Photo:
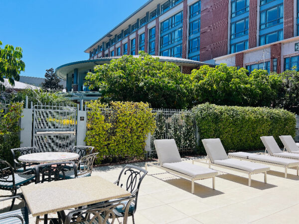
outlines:
[[[270,167],[236,159],[228,158],[225,149],[219,138],[202,139],[203,146],[209,159],[209,168],[211,165],[224,169],[234,170],[248,174],[248,186],[251,186],[251,175],[264,173],[264,181],[267,183],[267,171]],[[193,160],[193,162],[196,160]]]

